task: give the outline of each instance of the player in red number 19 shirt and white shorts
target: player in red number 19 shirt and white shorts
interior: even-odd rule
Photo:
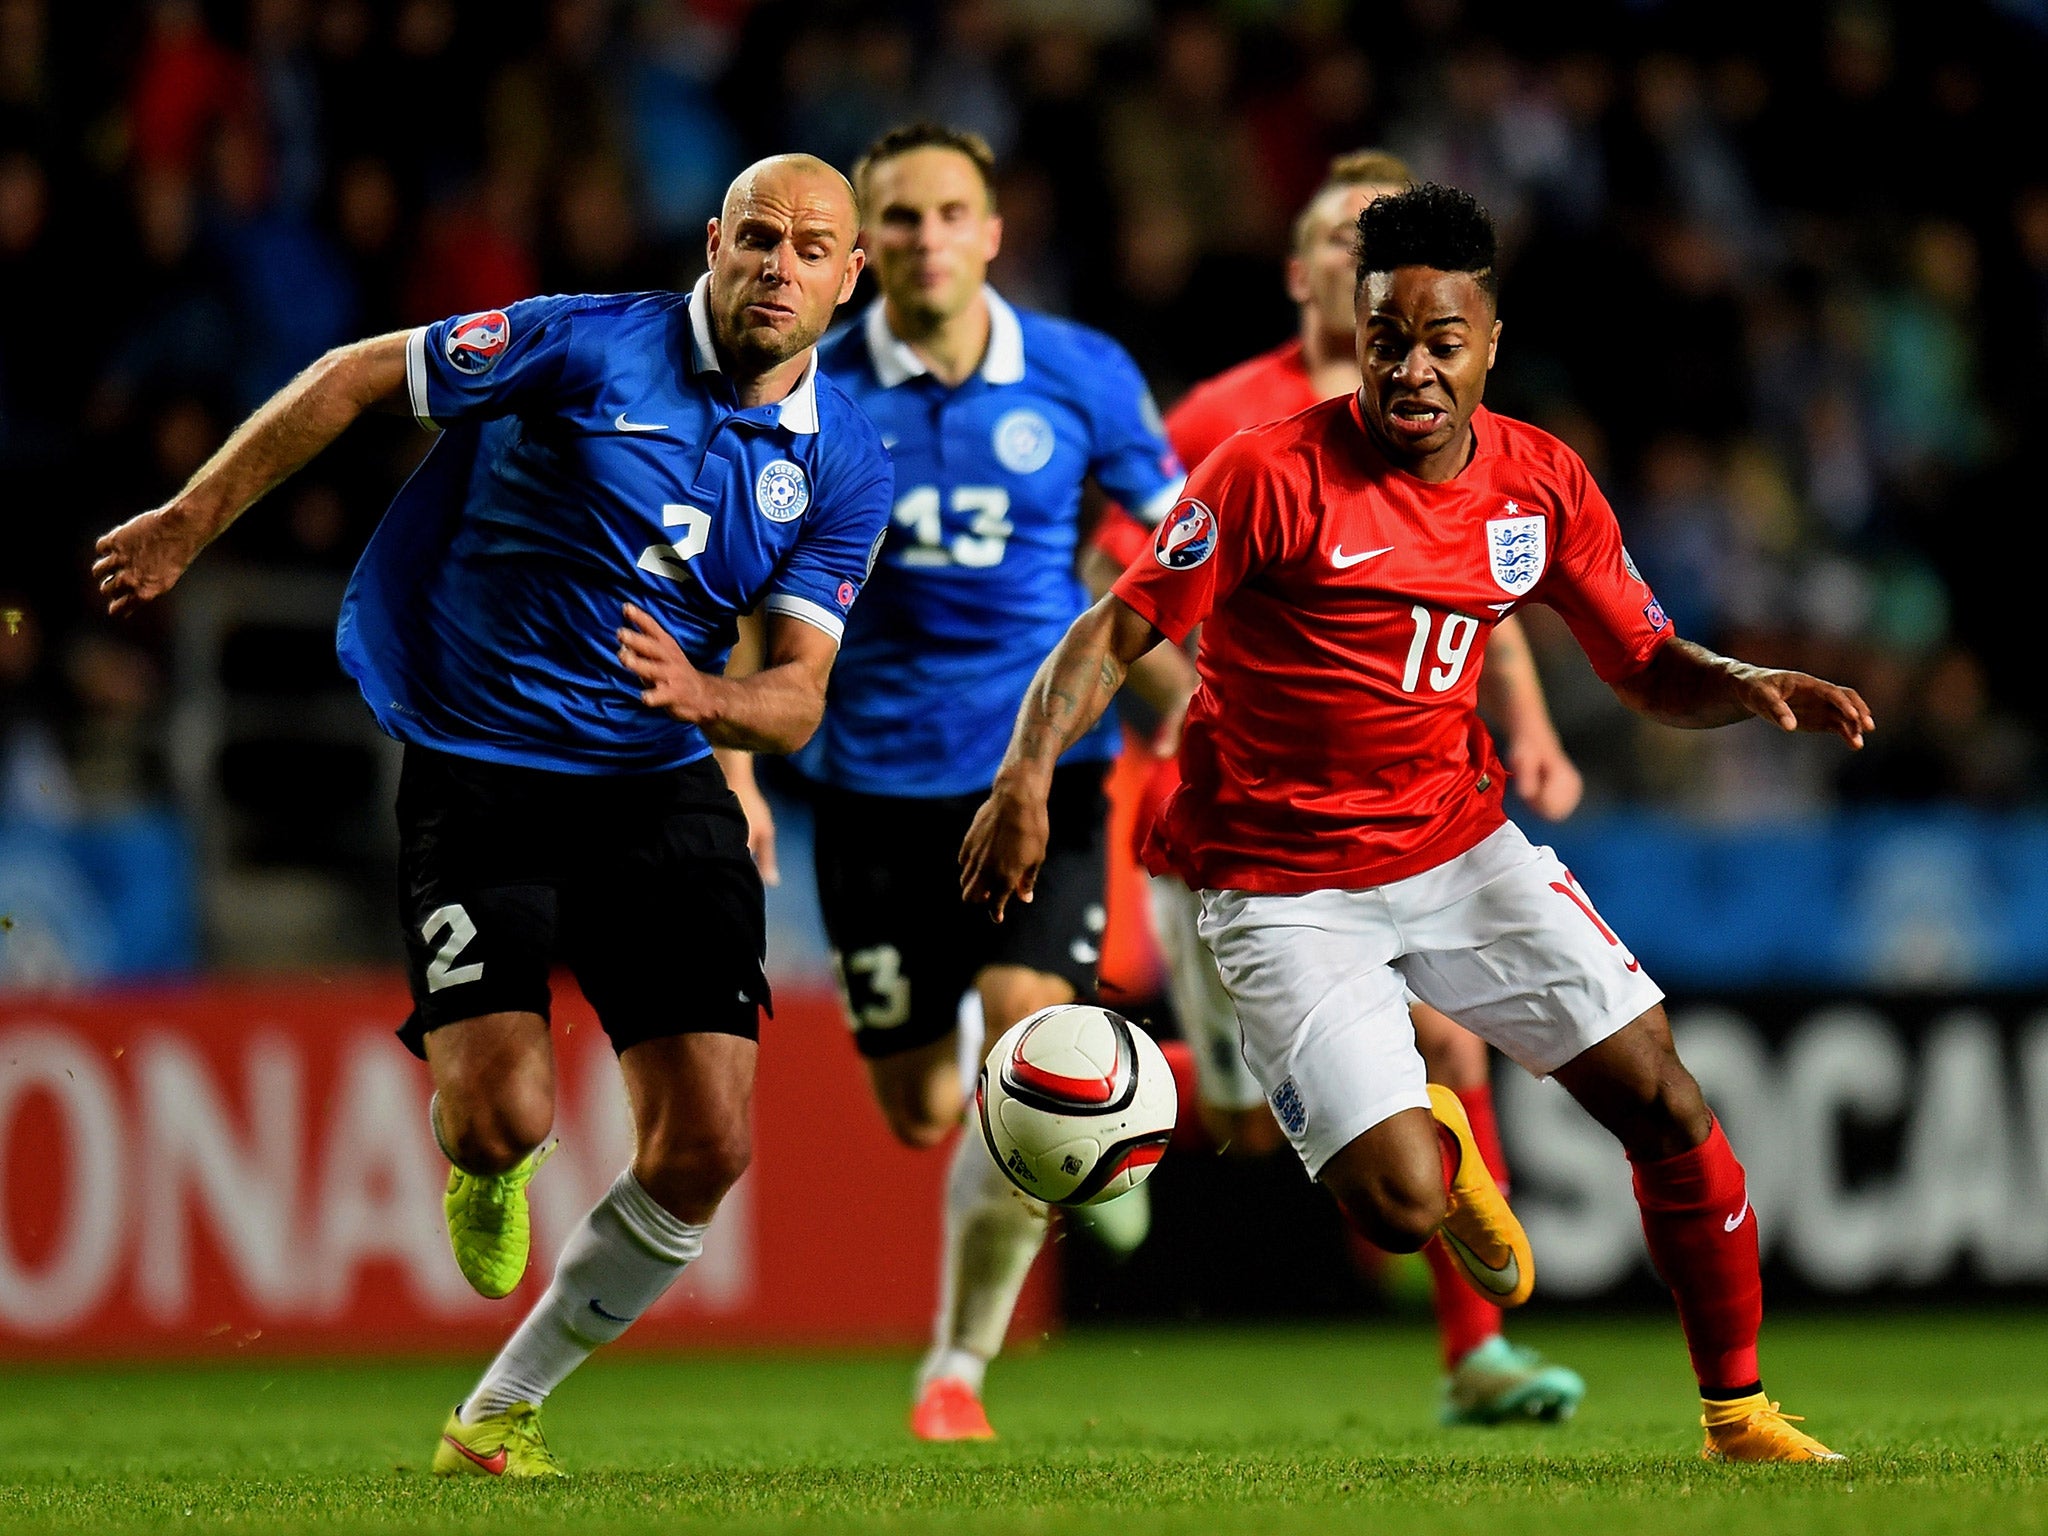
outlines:
[[[1659,987],[1501,813],[1470,662],[1505,612],[1546,602],[1669,725],[1755,715],[1860,748],[1870,711],[1677,639],[1579,457],[1481,408],[1499,319],[1470,197],[1417,186],[1358,225],[1358,393],[1231,438],[1153,559],[1067,631],[961,846],[961,889],[997,918],[1030,897],[1051,764],[1137,657],[1202,625],[1184,782],[1147,854],[1200,893],[1245,1059],[1309,1174],[1374,1243],[1442,1233],[1501,1305],[1530,1294],[1528,1239],[1456,1096],[1423,1081],[1413,987],[1620,1139],[1700,1382],[1702,1454],[1839,1460],[1763,1395],[1743,1167]]]

